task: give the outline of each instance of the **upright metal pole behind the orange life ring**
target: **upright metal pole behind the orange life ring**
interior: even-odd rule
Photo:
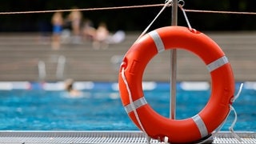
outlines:
[[[178,0],[173,0],[171,25],[178,25]],[[170,59],[170,118],[176,117],[176,71],[177,71],[177,50],[171,50]]]

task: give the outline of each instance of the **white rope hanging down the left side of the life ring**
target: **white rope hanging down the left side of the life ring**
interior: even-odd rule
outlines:
[[[122,63],[123,64],[123,63]],[[134,100],[133,100],[133,98],[132,98],[132,94],[131,94],[131,92],[130,92],[130,86],[129,86],[129,84],[128,84],[128,82],[127,82],[127,79],[126,79],[126,75],[125,75],[125,70],[124,70],[125,68],[124,67],[122,67],[122,80],[123,80],[123,82],[125,83],[125,85],[126,85],[126,90],[127,90],[127,92],[128,92],[128,95],[129,95],[129,101],[130,101],[130,106],[131,106],[131,108],[132,108],[132,110],[134,111],[134,115],[135,115],[135,118],[136,118],[136,120],[137,120],[137,122],[138,122],[138,125],[142,128],[142,131],[144,132],[144,134],[146,134],[146,130],[144,129],[144,127],[142,126],[142,122],[140,121],[140,118],[139,118],[139,116],[138,116],[138,113],[137,113],[137,110],[136,110],[136,108],[135,108],[135,106],[134,106]],[[150,137],[148,136],[148,134],[146,134],[146,137],[147,137],[147,141],[148,141],[148,143],[150,143]]]

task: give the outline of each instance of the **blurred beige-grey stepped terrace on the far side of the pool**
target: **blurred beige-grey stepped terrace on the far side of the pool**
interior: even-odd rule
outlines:
[[[52,50],[50,37],[40,34],[0,34],[0,81],[118,81],[122,57],[139,33],[128,32],[124,42],[94,50],[91,42],[63,42]],[[236,81],[256,81],[256,32],[205,32],[213,38],[234,69]],[[40,72],[38,71],[40,63]],[[63,65],[62,65],[63,64]],[[44,69],[45,67],[45,69]],[[170,52],[158,54],[146,67],[144,81],[170,81]],[[178,81],[209,81],[202,61],[178,50]]]

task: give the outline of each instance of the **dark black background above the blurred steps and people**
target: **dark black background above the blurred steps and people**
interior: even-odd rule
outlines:
[[[164,0],[1,0],[1,12],[31,10],[66,10],[109,6],[137,6],[160,4]],[[228,10],[256,12],[255,0],[185,0],[186,9]],[[106,22],[110,30],[144,30],[162,7],[136,8],[124,10],[82,11],[83,18],[89,18],[98,26]],[[66,16],[68,12],[64,13]],[[198,30],[256,30],[256,15],[187,13],[191,25]],[[52,13],[44,14],[1,14],[0,31],[50,31]],[[168,7],[154,23],[152,29],[169,26],[171,7]],[[181,10],[178,25],[186,26]]]

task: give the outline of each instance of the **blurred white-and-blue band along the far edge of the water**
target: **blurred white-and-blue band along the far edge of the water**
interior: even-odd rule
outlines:
[[[64,90],[64,82],[0,82],[0,90]],[[239,87],[240,83],[236,83]],[[143,90],[169,90],[169,82],[142,82]],[[113,90],[118,91],[118,82],[74,82],[77,90]],[[244,89],[256,90],[256,82],[244,82]],[[209,82],[178,82],[178,90],[210,90]]]

